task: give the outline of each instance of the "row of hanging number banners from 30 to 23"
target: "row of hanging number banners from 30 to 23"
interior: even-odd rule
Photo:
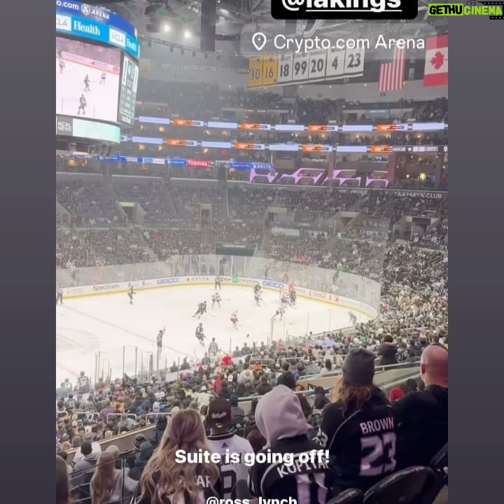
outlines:
[[[251,57],[248,59],[248,87],[362,76],[364,56],[364,48],[330,48]]]

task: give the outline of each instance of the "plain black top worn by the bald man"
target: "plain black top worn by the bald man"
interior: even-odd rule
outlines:
[[[398,468],[428,465],[448,442],[448,388],[426,386],[392,408],[398,422]]]

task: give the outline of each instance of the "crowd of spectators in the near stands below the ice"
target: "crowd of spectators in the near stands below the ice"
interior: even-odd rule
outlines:
[[[421,309],[426,299],[423,296],[412,307]],[[174,379],[168,375],[135,378],[125,375],[109,383],[100,379],[90,386],[89,379],[81,373],[75,387],[68,380],[63,382],[56,391],[57,493],[61,485],[64,491],[59,493],[67,497],[73,493],[82,498],[87,489],[92,502],[112,503],[132,496],[139,503],[153,502],[146,497],[146,492],[154,492],[149,490],[148,479],[155,470],[159,484],[163,477],[160,471],[170,463],[170,445],[184,447],[189,453],[198,449],[219,451],[223,437],[232,442],[233,449],[239,445],[242,452],[250,454],[260,452],[263,447],[281,451],[277,440],[282,438],[297,440],[297,451],[302,451],[299,448],[302,440],[309,444],[307,451],[328,449],[330,464],[325,467],[328,470],[325,476],[329,479],[325,482],[330,484],[322,487],[333,494],[353,487],[366,491],[393,470],[428,465],[447,442],[447,330],[433,327],[432,331],[415,329],[408,333],[409,328],[404,328],[407,321],[387,324],[394,309],[384,304],[378,330],[367,324],[356,327],[354,334],[328,334],[332,347],[327,349],[311,344],[309,339],[293,346],[244,344],[235,349],[232,360],[229,356],[212,362],[205,353],[193,366],[187,360],[180,369],[173,363]],[[416,323],[415,319],[412,323],[415,328]],[[374,385],[374,366],[391,365],[399,360],[420,361],[421,379],[408,379],[392,388],[388,400],[384,391]],[[307,381],[302,381],[302,377],[337,369],[342,369],[342,377],[335,377],[329,397],[320,386],[314,389],[311,403],[304,395],[295,395],[295,391],[307,390]],[[346,397],[344,388],[350,397]],[[391,427],[398,438],[397,466],[394,464],[385,474],[368,478],[358,477],[351,470],[349,461],[357,456],[351,440],[359,440],[355,431],[345,433],[341,442],[335,443],[338,427],[349,421],[345,420],[345,414],[343,419],[339,418],[339,409],[355,408],[351,394],[358,397],[359,392],[367,397],[365,402],[372,401],[374,414],[379,406],[387,411],[392,407],[398,419]],[[249,413],[240,407],[239,398],[251,400]],[[421,422],[415,421],[419,416]],[[363,421],[362,412],[358,421]],[[146,429],[149,426],[151,429]],[[433,428],[435,435],[431,432]],[[328,435],[330,432],[332,436]],[[114,436],[120,433],[132,433],[131,447],[123,456],[113,444]],[[193,446],[189,440],[195,439],[200,442]],[[419,439],[423,441],[421,444]],[[102,447],[102,440],[108,440],[106,448]],[[213,440],[220,442],[214,444]],[[292,448],[290,444],[290,451],[294,451]],[[71,463],[66,463],[69,452],[73,457]],[[160,464],[162,457],[165,462]],[[182,465],[177,464],[177,472],[179,477],[187,477],[184,484],[189,484],[195,478],[195,468],[200,466]],[[335,466],[346,471],[337,472],[336,476],[332,474]],[[254,496],[297,495],[285,481],[280,489],[274,484],[256,485],[260,477],[255,473],[264,469],[258,463],[244,472],[235,467],[237,475],[243,473],[245,479],[249,472],[249,491]],[[223,477],[217,467],[212,474],[216,482]],[[167,475],[164,477],[169,479]],[[225,497],[232,491],[222,481],[211,488]],[[299,485],[294,488],[299,489]],[[200,486],[189,486],[187,491],[194,491],[197,498]],[[99,500],[103,494],[106,500]]]

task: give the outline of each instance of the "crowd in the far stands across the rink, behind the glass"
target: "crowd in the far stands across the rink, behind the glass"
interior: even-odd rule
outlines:
[[[150,187],[155,189],[152,198],[148,197]],[[80,228],[79,231],[61,228],[56,244],[57,265],[73,269],[102,265],[107,261],[114,264],[148,262],[155,256],[165,260],[172,255],[211,253],[218,241],[260,244],[268,237],[267,253],[275,260],[283,257],[292,262],[328,268],[346,262],[350,272],[364,272],[374,278],[380,270],[379,265],[374,268],[373,258],[379,257],[374,255],[374,249],[393,239],[389,236],[392,225],[402,216],[440,216],[442,219],[437,225],[415,228],[406,237],[417,245],[440,248],[447,246],[448,241],[446,204],[422,195],[398,197],[391,190],[352,193],[331,188],[293,191],[231,187],[226,195],[225,190],[217,186],[172,186],[169,188],[172,201],[163,200],[163,204],[161,195],[165,195],[161,183],[120,186],[116,191],[118,197],[134,199],[146,209],[160,209],[154,212],[155,218],[146,218],[148,229],[137,235],[132,228],[109,229],[106,225],[92,230]],[[156,202],[154,206],[151,200]],[[212,205],[207,216],[200,211],[202,203]],[[267,222],[267,207],[286,207],[290,212],[288,216],[276,214],[274,221]],[[342,230],[341,239],[336,239],[332,227],[326,225],[327,219],[337,211],[358,213],[358,218],[353,218]],[[363,215],[369,217],[364,225],[360,217]],[[278,226],[299,227],[302,232],[300,237],[286,237],[267,231]],[[377,243],[370,245],[373,240]]]

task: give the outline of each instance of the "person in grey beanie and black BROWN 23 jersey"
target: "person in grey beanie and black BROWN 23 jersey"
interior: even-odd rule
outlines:
[[[393,410],[373,378],[374,353],[351,349],[322,412],[316,440],[329,451],[337,491],[366,491],[395,469]]]

